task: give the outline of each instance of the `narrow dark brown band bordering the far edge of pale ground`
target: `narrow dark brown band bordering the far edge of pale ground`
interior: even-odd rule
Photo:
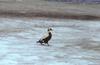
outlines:
[[[100,16],[85,15],[85,14],[70,14],[62,12],[20,12],[20,11],[0,11],[0,17],[45,17],[59,19],[76,19],[76,20],[100,20]]]

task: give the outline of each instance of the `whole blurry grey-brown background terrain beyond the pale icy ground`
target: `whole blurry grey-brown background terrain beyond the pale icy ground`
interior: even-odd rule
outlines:
[[[100,19],[99,4],[68,4],[46,0],[0,0],[0,16]]]

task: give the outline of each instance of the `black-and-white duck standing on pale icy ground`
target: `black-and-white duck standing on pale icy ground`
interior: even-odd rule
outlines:
[[[48,30],[47,30],[47,34],[46,35],[44,35],[42,38],[40,38],[38,41],[37,41],[37,43],[40,43],[41,45],[44,45],[44,44],[47,44],[48,46],[49,46],[49,41],[51,40],[51,38],[52,38],[52,28],[48,28]]]

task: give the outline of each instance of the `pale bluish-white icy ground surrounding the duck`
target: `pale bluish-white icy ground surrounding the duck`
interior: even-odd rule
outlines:
[[[50,46],[37,44],[48,27]],[[100,21],[0,18],[0,65],[100,65]]]

